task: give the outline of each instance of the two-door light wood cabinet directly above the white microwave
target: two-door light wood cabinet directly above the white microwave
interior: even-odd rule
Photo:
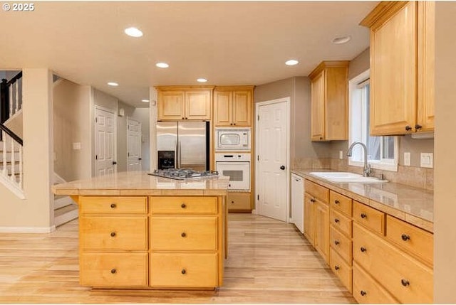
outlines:
[[[254,87],[215,87],[214,126],[251,127]]]

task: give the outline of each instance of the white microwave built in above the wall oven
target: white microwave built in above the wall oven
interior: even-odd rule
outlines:
[[[216,151],[249,151],[251,147],[251,129],[215,128]]]

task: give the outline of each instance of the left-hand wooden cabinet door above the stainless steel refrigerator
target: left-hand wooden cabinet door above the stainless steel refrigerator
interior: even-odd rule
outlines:
[[[157,105],[158,120],[184,119],[183,91],[159,91]]]

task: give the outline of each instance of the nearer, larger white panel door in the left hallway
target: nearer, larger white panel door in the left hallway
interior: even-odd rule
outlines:
[[[95,108],[95,176],[116,171],[115,124],[113,112]]]

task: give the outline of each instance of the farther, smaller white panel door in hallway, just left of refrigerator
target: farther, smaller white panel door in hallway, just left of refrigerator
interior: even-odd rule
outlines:
[[[127,171],[141,170],[141,122],[127,121]]]

